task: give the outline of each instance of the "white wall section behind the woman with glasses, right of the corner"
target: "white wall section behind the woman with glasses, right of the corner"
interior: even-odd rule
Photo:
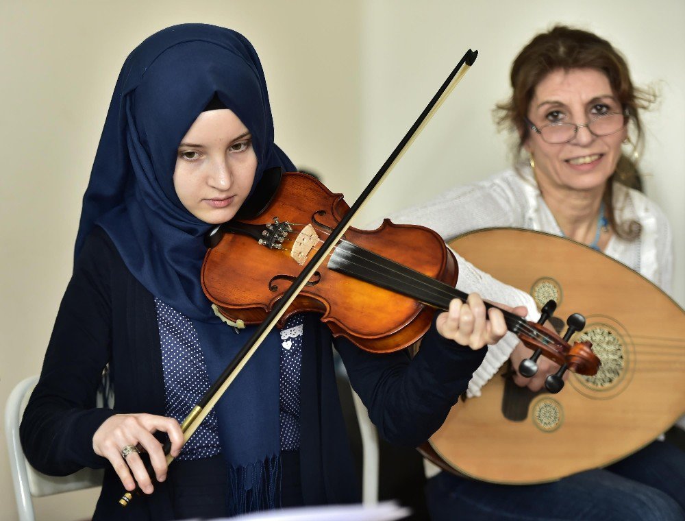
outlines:
[[[508,136],[491,117],[510,94],[521,47],[554,23],[597,32],[620,49],[638,85],[660,89],[645,114],[640,167],[647,194],[673,225],[674,296],[685,304],[685,3],[620,0],[393,1],[363,4],[362,172],[371,177],[466,49],[478,58],[365,208],[368,221],[510,165]]]

